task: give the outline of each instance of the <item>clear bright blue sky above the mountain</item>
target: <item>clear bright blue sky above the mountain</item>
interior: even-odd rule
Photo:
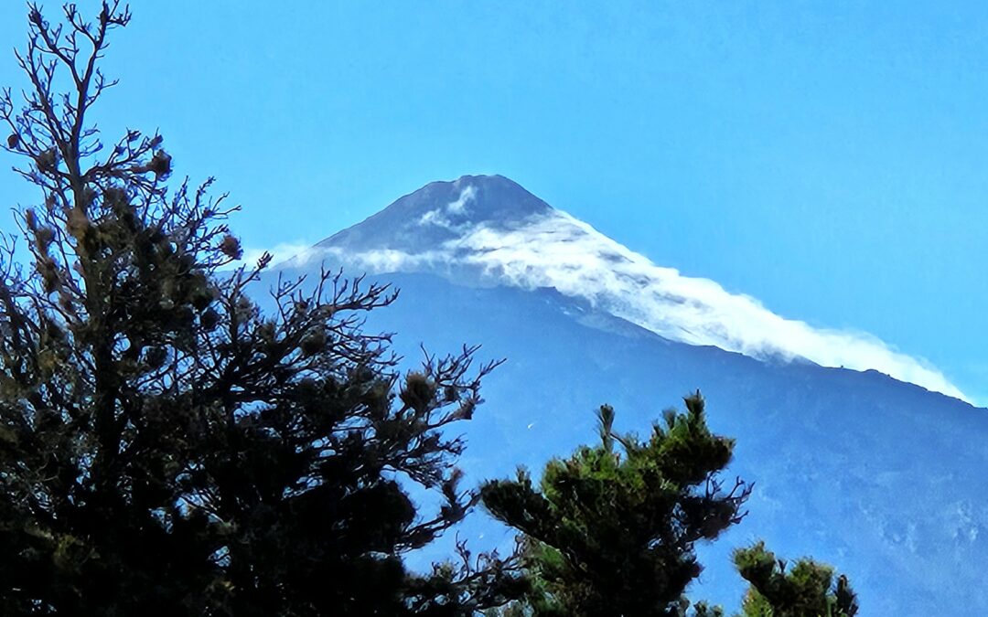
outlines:
[[[248,247],[502,174],[988,403],[986,3],[131,5],[101,125],[160,128],[178,173],[243,205]],[[0,84],[24,84],[25,15],[0,4]],[[34,198],[0,175],[0,203]]]

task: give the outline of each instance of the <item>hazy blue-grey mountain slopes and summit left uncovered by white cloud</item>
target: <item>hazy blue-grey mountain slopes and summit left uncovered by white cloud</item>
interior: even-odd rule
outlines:
[[[464,216],[445,221],[445,231],[421,224],[455,203],[449,199],[458,199],[463,184],[476,182],[431,185],[434,196],[417,202],[411,197],[421,193],[413,193],[406,199],[414,209],[392,205],[330,238],[318,257],[356,273],[375,252],[451,251],[466,227],[491,228],[477,214],[496,205],[484,203],[485,194],[511,199],[517,187],[499,179],[502,193],[474,189],[464,203],[477,209],[463,208],[473,218],[454,207]],[[497,233],[555,216],[543,202],[526,203],[495,214]],[[436,235],[424,241],[418,233]],[[755,481],[756,490],[749,517],[703,549],[707,570],[693,596],[736,607],[743,585],[730,568],[730,549],[764,537],[782,555],[838,565],[860,590],[865,616],[988,614],[979,567],[988,554],[984,410],[874,370],[688,345],[617,316],[601,297],[497,284],[508,279],[469,262],[480,255],[475,247],[453,255],[458,259],[422,260],[414,268],[390,264],[419,272],[379,269],[376,277],[402,292],[368,327],[397,332],[396,347],[410,361],[420,356],[420,343],[430,350],[480,343],[484,357],[508,358],[485,382],[488,403],[465,426],[469,480],[505,476],[517,464],[538,470],[548,457],[593,440],[592,410],[601,403],[615,405],[620,428],[645,431],[664,408],[700,388],[712,427],[737,438],[732,473]],[[284,271],[317,267],[315,254],[308,257]],[[461,533],[475,548],[509,539],[482,513]]]

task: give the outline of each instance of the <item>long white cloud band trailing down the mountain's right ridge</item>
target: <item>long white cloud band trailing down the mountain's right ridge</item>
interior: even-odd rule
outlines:
[[[464,193],[453,203],[465,204]],[[754,357],[801,356],[824,366],[873,368],[968,400],[935,367],[875,337],[783,318],[755,298],[730,293],[712,280],[656,266],[558,210],[508,231],[482,224],[460,231],[459,237],[427,253],[380,250],[348,253],[347,259],[378,272],[468,267],[492,282],[527,289],[554,287],[565,295],[585,298],[675,341]]]

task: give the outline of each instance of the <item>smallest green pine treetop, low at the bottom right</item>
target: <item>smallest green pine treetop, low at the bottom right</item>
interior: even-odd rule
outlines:
[[[854,617],[858,597],[844,575],[811,559],[786,563],[759,542],[734,552],[734,564],[751,583],[742,603],[745,617]]]

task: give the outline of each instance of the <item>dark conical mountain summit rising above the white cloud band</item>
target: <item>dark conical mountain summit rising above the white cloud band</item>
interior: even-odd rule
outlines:
[[[504,176],[461,176],[406,194],[316,246],[420,252],[458,236],[466,227],[510,229],[551,211],[549,204]]]

